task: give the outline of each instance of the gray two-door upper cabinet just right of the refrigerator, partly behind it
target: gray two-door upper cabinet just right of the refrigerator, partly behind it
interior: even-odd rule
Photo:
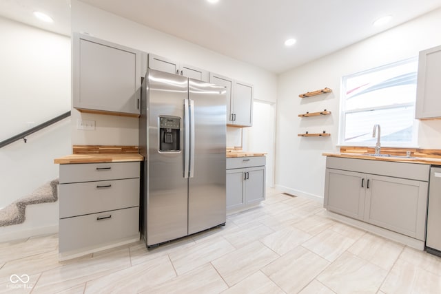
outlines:
[[[253,86],[232,78],[210,73],[209,82],[227,88],[227,125],[251,127],[253,125]]]

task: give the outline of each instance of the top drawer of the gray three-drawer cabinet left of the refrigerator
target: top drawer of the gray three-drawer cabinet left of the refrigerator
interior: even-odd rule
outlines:
[[[139,178],[139,162],[79,163],[60,165],[60,184]]]

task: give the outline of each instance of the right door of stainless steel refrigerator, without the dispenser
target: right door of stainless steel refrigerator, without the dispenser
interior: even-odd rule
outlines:
[[[190,78],[189,100],[194,106],[188,197],[188,233],[192,234],[226,220],[226,90]]]

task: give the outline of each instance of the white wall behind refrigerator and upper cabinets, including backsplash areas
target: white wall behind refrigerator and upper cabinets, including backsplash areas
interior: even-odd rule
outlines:
[[[100,39],[165,56],[210,72],[252,83],[254,98],[262,101],[276,101],[277,76],[259,67],[231,59],[169,34],[158,32],[145,25],[117,17],[80,1],[72,1],[71,19],[72,32],[88,32]],[[77,130],[76,120],[78,119],[95,120],[96,129],[94,131]],[[240,145],[237,129],[228,128],[227,132],[229,144]],[[247,137],[246,129],[244,137]],[[118,116],[81,114],[73,110],[72,144],[138,145],[138,120]]]

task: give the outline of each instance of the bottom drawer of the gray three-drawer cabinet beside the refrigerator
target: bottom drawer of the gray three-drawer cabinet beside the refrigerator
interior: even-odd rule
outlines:
[[[139,233],[139,207],[59,221],[59,252],[92,249]]]

